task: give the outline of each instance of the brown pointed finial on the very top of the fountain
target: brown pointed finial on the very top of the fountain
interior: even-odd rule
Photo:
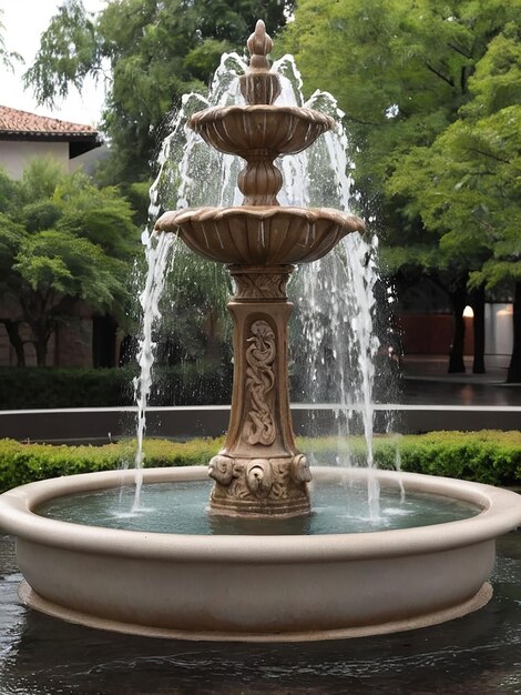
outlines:
[[[249,70],[241,77],[243,97],[249,105],[272,104],[280,93],[280,80],[276,72],[269,72],[267,54],[273,48],[273,41],[262,19],[255,24],[247,44],[251,58]]]

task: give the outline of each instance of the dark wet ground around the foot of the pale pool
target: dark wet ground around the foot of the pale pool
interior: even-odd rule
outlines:
[[[0,536],[1,695],[514,695],[521,693],[521,532],[498,542],[481,611],[418,631],[294,645],[190,643],[71,625],[22,606]]]

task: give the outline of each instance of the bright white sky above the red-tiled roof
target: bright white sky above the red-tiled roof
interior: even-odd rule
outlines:
[[[96,127],[104,101],[101,82],[94,84],[89,81],[81,94],[71,88],[70,97],[57,101],[54,109],[39,107],[32,90],[23,90],[22,74],[31,67],[40,46],[40,36],[60,4],[63,0],[0,0],[6,50],[17,51],[24,60],[22,64],[14,64],[14,72],[0,66],[0,105]],[[95,12],[103,9],[105,0],[83,0],[83,6],[88,11]]]

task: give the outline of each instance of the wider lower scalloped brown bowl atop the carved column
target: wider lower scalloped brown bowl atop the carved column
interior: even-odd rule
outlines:
[[[165,212],[162,232],[178,232],[198,255],[245,265],[285,265],[316,261],[364,222],[328,208],[193,208]]]

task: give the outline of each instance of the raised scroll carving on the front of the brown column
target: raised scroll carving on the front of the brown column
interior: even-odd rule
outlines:
[[[251,333],[246,350],[246,395],[251,407],[243,426],[243,439],[251,445],[269,446],[276,437],[275,421],[268,403],[268,393],[275,384],[275,333],[266,321],[260,320],[252,324]]]

